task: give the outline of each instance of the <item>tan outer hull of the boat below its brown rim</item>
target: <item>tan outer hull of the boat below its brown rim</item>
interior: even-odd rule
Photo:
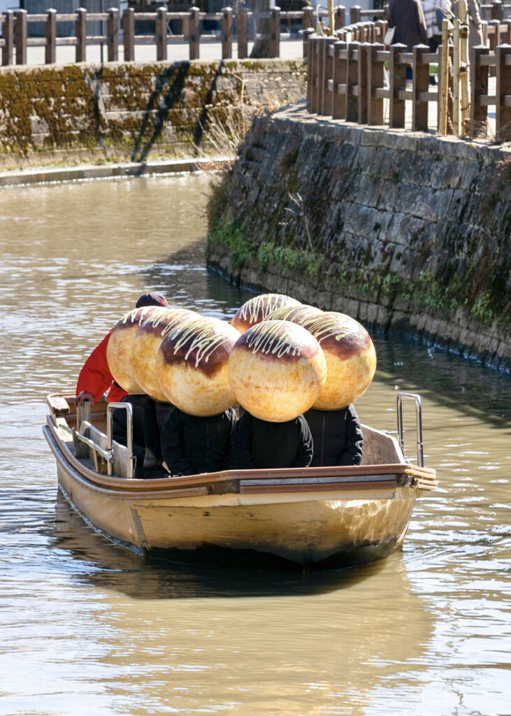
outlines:
[[[59,463],[57,472],[70,503],[96,528],[144,551],[255,550],[300,564],[352,564],[399,550],[421,492],[398,487],[354,489],[342,498],[335,491],[130,497],[84,483],[69,465]]]

